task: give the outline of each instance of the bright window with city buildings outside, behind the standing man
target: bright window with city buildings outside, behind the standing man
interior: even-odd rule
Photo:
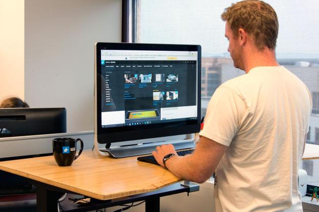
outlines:
[[[236,1],[146,1],[137,7],[137,42],[199,44],[202,46],[202,116],[209,99],[223,82],[244,74],[233,67],[227,52],[225,22],[220,14]],[[313,109],[307,142],[319,144],[319,18],[314,0],[265,1],[277,12],[279,36],[276,55],[280,65],[309,88]],[[308,184],[319,186],[319,160],[303,161]]]

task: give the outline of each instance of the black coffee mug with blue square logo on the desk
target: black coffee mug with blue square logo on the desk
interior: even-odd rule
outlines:
[[[77,142],[80,141],[78,155]],[[70,166],[74,160],[79,158],[83,150],[83,141],[78,138],[54,138],[52,140],[53,156],[59,166]]]

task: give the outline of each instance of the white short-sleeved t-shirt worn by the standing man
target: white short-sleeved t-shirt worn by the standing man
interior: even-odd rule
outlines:
[[[216,169],[216,212],[302,211],[298,170],[311,96],[283,66],[220,85],[200,135],[229,146]]]

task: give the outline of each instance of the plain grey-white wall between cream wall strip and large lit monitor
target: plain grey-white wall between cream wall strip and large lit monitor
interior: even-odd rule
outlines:
[[[25,1],[25,100],[66,107],[67,132],[93,130],[95,42],[120,42],[120,0]]]

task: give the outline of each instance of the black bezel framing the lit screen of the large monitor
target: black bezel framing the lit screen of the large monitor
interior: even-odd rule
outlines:
[[[181,122],[168,122],[140,126],[123,126],[117,128],[102,128],[102,99],[101,99],[101,50],[157,50],[157,51],[197,51],[198,52],[198,73],[197,73],[197,119]],[[98,143],[113,143],[130,140],[140,140],[156,137],[174,136],[197,133],[201,125],[201,46],[200,45],[179,45],[179,44],[140,44],[140,43],[96,43],[95,44],[95,114],[94,134]],[[140,132],[138,132],[140,131]]]

